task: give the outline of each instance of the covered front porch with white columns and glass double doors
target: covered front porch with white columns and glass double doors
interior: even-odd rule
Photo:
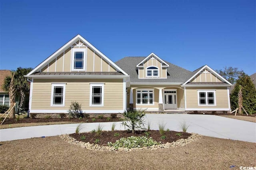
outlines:
[[[127,91],[127,110],[184,112],[184,89],[180,85],[136,85]]]

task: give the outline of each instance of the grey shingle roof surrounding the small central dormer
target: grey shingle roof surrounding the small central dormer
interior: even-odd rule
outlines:
[[[167,79],[139,79],[136,65],[144,58],[145,57],[124,57],[115,63],[130,75],[131,83],[184,83],[191,75],[191,71],[165,61],[170,65],[170,67],[167,68]]]

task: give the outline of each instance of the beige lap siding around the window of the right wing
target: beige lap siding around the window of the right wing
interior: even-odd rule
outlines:
[[[216,90],[216,106],[198,106],[198,90]],[[227,87],[186,87],[186,104],[189,108],[228,108]]]

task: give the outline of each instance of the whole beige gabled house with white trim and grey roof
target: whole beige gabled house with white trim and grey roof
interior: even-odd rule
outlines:
[[[67,113],[71,101],[86,113],[230,111],[231,84],[208,65],[191,72],[154,53],[114,63],[80,35],[26,77],[30,113]]]

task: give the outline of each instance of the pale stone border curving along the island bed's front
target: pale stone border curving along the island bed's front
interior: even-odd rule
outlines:
[[[165,144],[159,144],[159,145],[153,145],[153,146],[148,146],[148,147],[142,147],[142,148],[114,148],[113,146],[101,146],[98,144],[91,144],[89,142],[85,143],[82,141],[78,141],[75,138],[69,136],[69,134],[62,134],[60,135],[60,138],[62,138],[63,140],[65,140],[66,142],[70,143],[70,144],[75,144],[78,146],[81,146],[82,148],[86,148],[89,150],[102,150],[102,151],[126,151],[126,152],[130,152],[132,150],[158,150],[160,148],[170,148],[170,147],[177,147],[177,146],[185,146],[186,144],[189,144],[190,142],[193,142],[199,138],[201,138],[201,136],[199,134],[196,133],[191,133],[191,136],[189,136],[187,139],[179,139],[176,140],[175,142],[167,142]]]

